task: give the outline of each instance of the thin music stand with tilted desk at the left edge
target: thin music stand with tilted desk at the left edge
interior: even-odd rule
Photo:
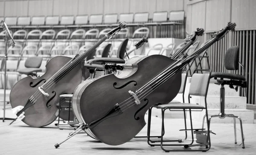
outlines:
[[[12,35],[6,25],[6,23],[3,22],[3,20],[0,23],[3,27],[3,31],[5,31],[6,37],[4,37],[3,39],[6,42],[6,51],[5,51],[5,56],[4,56],[4,90],[3,90],[3,122],[4,120],[14,120],[14,118],[5,118],[5,110],[6,110],[6,61],[7,61],[7,43],[8,41],[10,41],[10,45],[12,45],[13,47],[15,46],[15,42],[12,38]]]

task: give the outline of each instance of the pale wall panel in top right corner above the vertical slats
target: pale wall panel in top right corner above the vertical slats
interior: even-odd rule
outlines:
[[[256,29],[256,0],[232,0],[231,20],[236,29]]]

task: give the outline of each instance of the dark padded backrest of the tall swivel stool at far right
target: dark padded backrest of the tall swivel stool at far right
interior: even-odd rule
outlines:
[[[227,70],[239,69],[239,46],[227,49],[224,56],[224,66]]]

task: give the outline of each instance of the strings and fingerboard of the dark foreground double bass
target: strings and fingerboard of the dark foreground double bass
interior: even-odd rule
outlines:
[[[191,62],[193,59],[195,59],[199,54],[201,54],[202,52],[204,52],[207,48],[209,48],[209,46],[211,46],[216,40],[218,40],[220,37],[214,37],[213,39],[211,39],[209,42],[208,42],[208,44],[207,45],[204,45],[203,47],[201,47],[201,48],[199,48],[197,51],[195,51],[193,54],[191,54],[192,56],[194,56],[194,57],[192,57],[192,56],[190,56],[191,58],[189,59],[189,60],[184,60],[184,62],[186,62],[186,61],[188,61],[188,62]],[[171,72],[171,73],[169,73],[170,75],[167,75],[167,76],[165,76],[165,79],[163,79],[164,81],[162,81],[161,83],[159,82],[159,83],[157,83],[152,89],[150,89],[150,87],[148,88],[148,89],[150,89],[148,92],[146,92],[146,93],[151,93],[154,89],[156,89],[157,87],[159,87],[160,85],[162,85],[164,82],[166,82],[166,80],[168,80],[170,77],[172,77],[174,74],[175,74],[175,71],[177,71],[177,70],[180,70],[181,68],[183,68],[184,66],[186,66],[185,65],[186,63],[184,63],[183,65],[180,65],[180,66],[177,66],[178,68],[174,68],[174,72]],[[147,89],[147,90],[148,90]],[[146,91],[146,90],[145,90]],[[145,93],[145,91],[143,92],[143,93]],[[143,94],[143,93],[141,93],[141,94],[139,94],[138,95],[138,97],[139,97],[139,99],[142,99],[142,98],[144,98],[145,96],[147,96],[148,94]],[[142,96],[141,96],[142,95]],[[134,99],[135,100],[135,99]],[[133,101],[132,103],[134,103],[135,101]],[[127,102],[128,103],[128,102]],[[135,104],[132,104],[132,103],[130,103],[130,104],[128,104],[127,106],[125,106],[125,107],[127,107],[127,108],[125,108],[125,107],[122,107],[122,111],[125,111],[125,110],[127,110],[128,108],[130,108],[130,107],[132,107],[132,106],[134,106],[134,105],[136,105],[136,103]],[[131,105],[132,104],[132,105]],[[129,105],[131,105],[130,107],[128,107]]]

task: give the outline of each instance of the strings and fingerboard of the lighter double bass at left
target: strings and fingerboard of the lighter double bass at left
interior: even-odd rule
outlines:
[[[93,47],[91,48],[91,49],[95,49],[95,48],[97,48],[102,42],[104,42],[105,40],[106,40],[106,38],[107,37],[103,37],[99,42],[97,42],[95,45],[93,45]],[[79,62],[81,62],[81,60],[83,60],[86,56],[88,56],[93,50],[91,50],[90,51],[90,49],[88,50],[88,51],[90,51],[89,53],[85,53],[84,55],[81,55],[81,56],[79,56],[79,60],[77,60],[76,62],[74,62],[73,64],[75,64],[75,65],[73,65],[73,64],[71,64],[71,65],[69,65],[67,68],[66,68],[66,70],[64,70],[63,72],[61,72],[61,73],[59,73],[60,75],[56,75],[56,76],[59,76],[59,78],[57,79],[57,80],[59,80],[59,79],[61,79],[63,76],[65,76],[66,75],[66,73],[68,73],[71,69],[73,69],[72,68],[72,65],[73,66],[76,66],[77,64],[79,64]],[[71,66],[71,67],[70,67]],[[46,85],[46,87],[45,87],[45,90],[48,90],[52,85],[53,85],[53,83],[55,83],[55,80],[54,80],[54,76],[51,78],[51,79],[49,79],[49,83]],[[41,96],[41,92],[39,91],[39,90],[37,90],[35,93],[34,93],[34,98],[35,98],[35,101],[38,99],[38,97],[39,96]],[[34,101],[34,100],[33,100]],[[34,101],[34,102],[35,102]]]

